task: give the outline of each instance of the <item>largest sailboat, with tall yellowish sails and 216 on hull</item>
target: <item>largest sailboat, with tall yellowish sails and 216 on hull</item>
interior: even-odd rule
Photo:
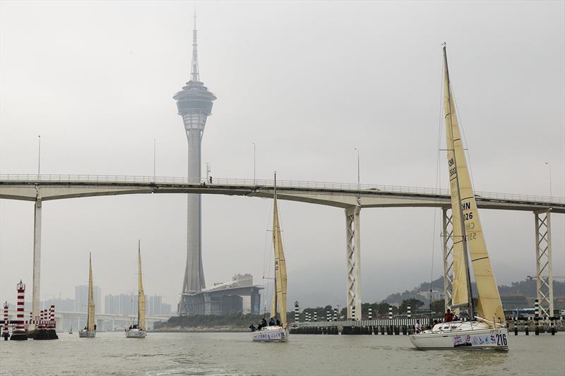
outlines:
[[[453,224],[453,293],[451,309],[467,311],[468,321],[440,322],[432,329],[412,334],[410,341],[420,350],[500,349],[508,350],[508,328],[496,280],[484,242],[482,226],[472,190],[461,141],[455,101],[451,92],[447,52],[444,44],[444,111],[447,159]],[[472,301],[470,265],[477,285],[477,309]]]

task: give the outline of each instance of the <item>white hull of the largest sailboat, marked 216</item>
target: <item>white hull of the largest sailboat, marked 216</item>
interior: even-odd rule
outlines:
[[[508,328],[484,322],[442,322],[431,330],[410,335],[419,350],[508,350]]]

